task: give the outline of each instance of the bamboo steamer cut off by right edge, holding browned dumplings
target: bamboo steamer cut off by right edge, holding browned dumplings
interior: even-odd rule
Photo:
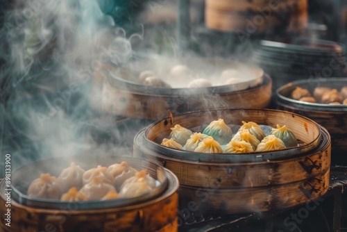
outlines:
[[[345,86],[347,86],[347,78],[316,78],[293,81],[276,90],[278,108],[309,117],[329,131],[332,138],[332,163],[340,165],[346,164],[344,156],[347,151],[347,106],[343,102],[347,95],[343,91],[341,93]],[[321,97],[316,97],[316,103],[300,101],[291,97],[291,93],[296,88],[308,90],[312,97],[317,96],[314,90],[319,88],[336,89],[335,96],[339,99],[334,99],[332,94],[330,102],[335,101],[333,104],[321,103]]]

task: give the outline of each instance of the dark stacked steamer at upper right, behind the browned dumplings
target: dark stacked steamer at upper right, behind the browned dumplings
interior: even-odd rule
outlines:
[[[298,39],[291,43],[262,40],[253,60],[273,77],[273,90],[304,78],[344,76],[344,45],[327,40]]]

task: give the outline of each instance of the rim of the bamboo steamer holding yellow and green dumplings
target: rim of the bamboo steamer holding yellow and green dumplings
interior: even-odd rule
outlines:
[[[298,115],[296,113],[289,113],[284,110],[273,110],[273,109],[198,110],[198,111],[182,113],[180,115],[176,115],[176,117],[178,116],[183,117],[185,115],[192,115],[192,114],[204,115],[205,113],[213,113],[213,112],[217,113],[220,111],[228,111],[228,112],[239,111],[239,112],[248,112],[248,113],[251,113],[251,112],[284,113],[286,115],[291,115],[291,117],[298,117],[298,118],[304,119],[307,122],[314,124],[314,127],[318,130],[318,134],[316,135],[316,138],[314,138],[311,142],[300,147],[291,147],[291,148],[276,150],[276,151],[261,151],[261,152],[246,153],[246,154],[205,154],[205,153],[164,147],[158,142],[154,142],[151,139],[149,139],[148,134],[150,133],[150,131],[153,129],[155,125],[160,124],[160,122],[164,122],[164,124],[169,124],[173,118],[173,117],[164,117],[163,119],[159,119],[156,122],[153,122],[153,124],[142,129],[142,131],[140,131],[139,133],[137,133],[137,135],[135,135],[134,141],[139,140],[138,142],[141,142],[143,147],[146,147],[148,149],[153,149],[153,151],[158,152],[164,157],[178,159],[178,160],[181,160],[182,162],[187,162],[187,163],[201,162],[201,163],[215,163],[215,164],[226,163],[226,162],[227,163],[228,162],[230,163],[245,163],[245,162],[261,163],[261,162],[269,162],[271,160],[291,158],[291,157],[303,154],[307,151],[311,151],[312,149],[315,149],[321,142],[322,131],[321,131],[321,126],[319,126],[319,124],[314,122],[312,119],[309,119],[302,115]],[[171,122],[171,126],[174,126],[174,123]],[[168,154],[167,152],[164,152],[164,151],[170,151],[170,152]]]

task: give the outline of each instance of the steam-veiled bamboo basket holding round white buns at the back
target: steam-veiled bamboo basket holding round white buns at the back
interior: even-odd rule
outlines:
[[[185,67],[189,74],[174,73],[176,67]],[[139,76],[146,70],[155,72],[171,87],[141,83]],[[262,69],[230,60],[149,56],[124,67],[110,65],[103,75],[103,110],[124,117],[159,119],[167,110],[178,114],[215,108],[265,108],[271,99],[272,80]],[[228,77],[234,82],[226,83]],[[189,87],[199,78],[210,85]]]

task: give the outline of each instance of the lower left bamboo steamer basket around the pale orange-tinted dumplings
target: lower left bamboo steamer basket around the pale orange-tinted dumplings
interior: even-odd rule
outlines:
[[[72,159],[74,160],[74,159]],[[87,162],[86,162],[87,161]],[[76,164],[87,163],[96,165],[110,165],[126,161],[130,167],[147,168],[147,172],[155,177],[155,174],[162,175],[158,166],[144,162],[138,158],[126,156],[103,157],[103,156],[78,156]],[[28,181],[33,178],[33,174],[60,170],[69,165],[67,160],[49,158],[30,163],[12,172],[12,185],[17,181]],[[53,167],[54,166],[54,167]],[[83,165],[81,165],[83,167]],[[86,209],[85,204],[89,201],[71,202],[62,204],[59,208],[46,208],[32,206],[35,201],[23,202],[11,200],[10,212],[11,223],[6,226],[4,213],[1,213],[0,231],[46,231],[47,228],[53,231],[177,231],[178,229],[178,179],[172,172],[163,169],[167,178],[167,186],[163,192],[152,199],[134,200],[118,206],[97,206],[94,209]],[[25,171],[25,172],[24,172]],[[31,177],[29,177],[31,176]],[[29,183],[30,184],[30,183]],[[6,198],[4,196],[4,181],[1,183],[0,210],[6,212]],[[14,194],[12,190],[12,194]],[[140,197],[141,198],[141,197]],[[96,202],[97,203],[97,202]],[[36,203],[37,204],[37,203]],[[113,204],[113,203],[112,203]]]

